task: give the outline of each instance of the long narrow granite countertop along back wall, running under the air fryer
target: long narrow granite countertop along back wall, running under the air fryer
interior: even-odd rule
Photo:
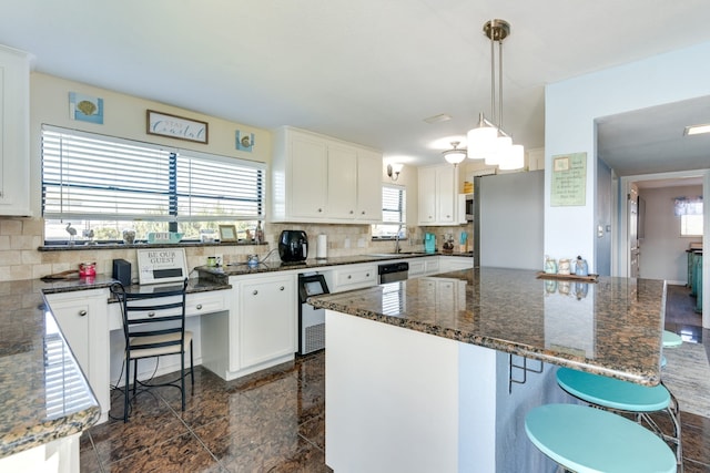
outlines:
[[[216,277],[220,276],[241,276],[241,275],[253,275],[258,273],[272,273],[272,271],[291,271],[291,270],[308,270],[308,269],[317,269],[324,268],[326,266],[342,266],[342,265],[356,265],[359,263],[382,263],[390,259],[409,259],[409,258],[423,258],[427,256],[460,256],[460,257],[473,257],[473,251],[468,253],[424,253],[424,251],[412,251],[412,253],[398,253],[398,254],[387,254],[387,253],[373,253],[365,255],[355,255],[355,256],[337,256],[332,258],[318,258],[318,259],[306,259],[305,261],[298,263],[282,263],[278,260],[274,261],[263,261],[260,263],[255,267],[250,267],[246,263],[220,266],[220,267],[210,267],[210,266],[199,266],[197,271],[200,273],[200,277],[205,277],[206,275],[213,275]]]

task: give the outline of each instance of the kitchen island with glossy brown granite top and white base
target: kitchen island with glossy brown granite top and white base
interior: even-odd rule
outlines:
[[[665,294],[658,280],[480,268],[311,298],[327,309],[326,463],[550,471],[523,419],[567,399],[555,367],[657,384]]]

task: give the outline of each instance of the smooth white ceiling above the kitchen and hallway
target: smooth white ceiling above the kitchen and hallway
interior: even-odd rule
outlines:
[[[442,162],[448,142],[465,141],[478,112],[488,112],[481,29],[490,18],[511,24],[504,127],[527,148],[544,146],[546,83],[710,41],[708,0],[0,0],[0,44],[33,53],[37,71],[257,127],[308,128],[415,165]],[[440,113],[453,119],[424,122]],[[661,169],[650,127],[633,141],[621,132],[650,116],[627,115],[600,121],[609,137],[600,153],[620,168],[633,162],[622,175]],[[679,153],[663,150],[665,161]]]

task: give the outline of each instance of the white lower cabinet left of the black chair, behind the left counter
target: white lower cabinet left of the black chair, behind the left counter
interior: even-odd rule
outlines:
[[[91,384],[101,419],[108,419],[109,399],[109,289],[45,295],[49,307],[72,353]]]

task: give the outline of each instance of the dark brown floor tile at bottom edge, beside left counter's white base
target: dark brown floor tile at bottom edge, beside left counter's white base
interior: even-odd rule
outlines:
[[[192,434],[174,436],[104,466],[106,473],[219,472],[223,466]]]

